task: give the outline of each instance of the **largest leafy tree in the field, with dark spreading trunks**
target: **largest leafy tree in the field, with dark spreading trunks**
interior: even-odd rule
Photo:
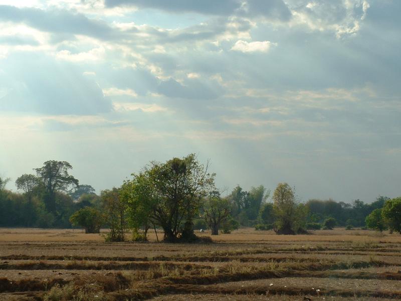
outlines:
[[[144,176],[152,187],[151,219],[161,226],[168,242],[196,239],[192,220],[202,200],[214,187],[215,174],[200,164],[194,154],[173,158],[164,164],[152,162]]]

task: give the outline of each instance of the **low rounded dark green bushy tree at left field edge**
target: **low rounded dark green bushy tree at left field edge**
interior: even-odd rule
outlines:
[[[85,207],[71,215],[70,222],[73,226],[84,228],[85,233],[100,233],[103,216],[95,208]]]

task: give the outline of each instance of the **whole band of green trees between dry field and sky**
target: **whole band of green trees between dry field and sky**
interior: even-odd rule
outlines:
[[[35,174],[16,180],[22,193],[8,191],[10,179],[0,178],[0,226],[79,226],[87,233],[99,233],[107,226],[110,241],[126,239],[128,230],[133,240],[146,240],[149,230],[159,228],[163,232],[160,240],[168,242],[198,240],[194,230],[209,228],[212,235],[218,235],[240,226],[272,229],[278,234],[335,225],[400,231],[401,211],[396,210],[401,199],[380,196],[371,204],[313,199],[303,204],[287,183],[279,183],[272,195],[262,185],[250,191],[238,185],[227,193],[216,188],[216,174],[194,154],[151,162],[121,187],[104,190],[100,196],[69,174],[72,166],[68,162],[47,161],[33,170]]]

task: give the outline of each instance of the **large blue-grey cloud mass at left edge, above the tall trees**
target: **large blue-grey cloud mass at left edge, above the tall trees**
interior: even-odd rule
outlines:
[[[13,55],[2,67],[8,77],[2,110],[79,115],[112,109],[98,84],[71,65],[46,56]]]

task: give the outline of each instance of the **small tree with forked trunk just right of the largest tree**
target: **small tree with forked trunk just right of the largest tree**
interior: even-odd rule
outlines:
[[[204,203],[204,217],[212,229],[212,235],[219,235],[221,224],[231,217],[231,206],[226,198],[221,198],[218,191],[212,191]]]

